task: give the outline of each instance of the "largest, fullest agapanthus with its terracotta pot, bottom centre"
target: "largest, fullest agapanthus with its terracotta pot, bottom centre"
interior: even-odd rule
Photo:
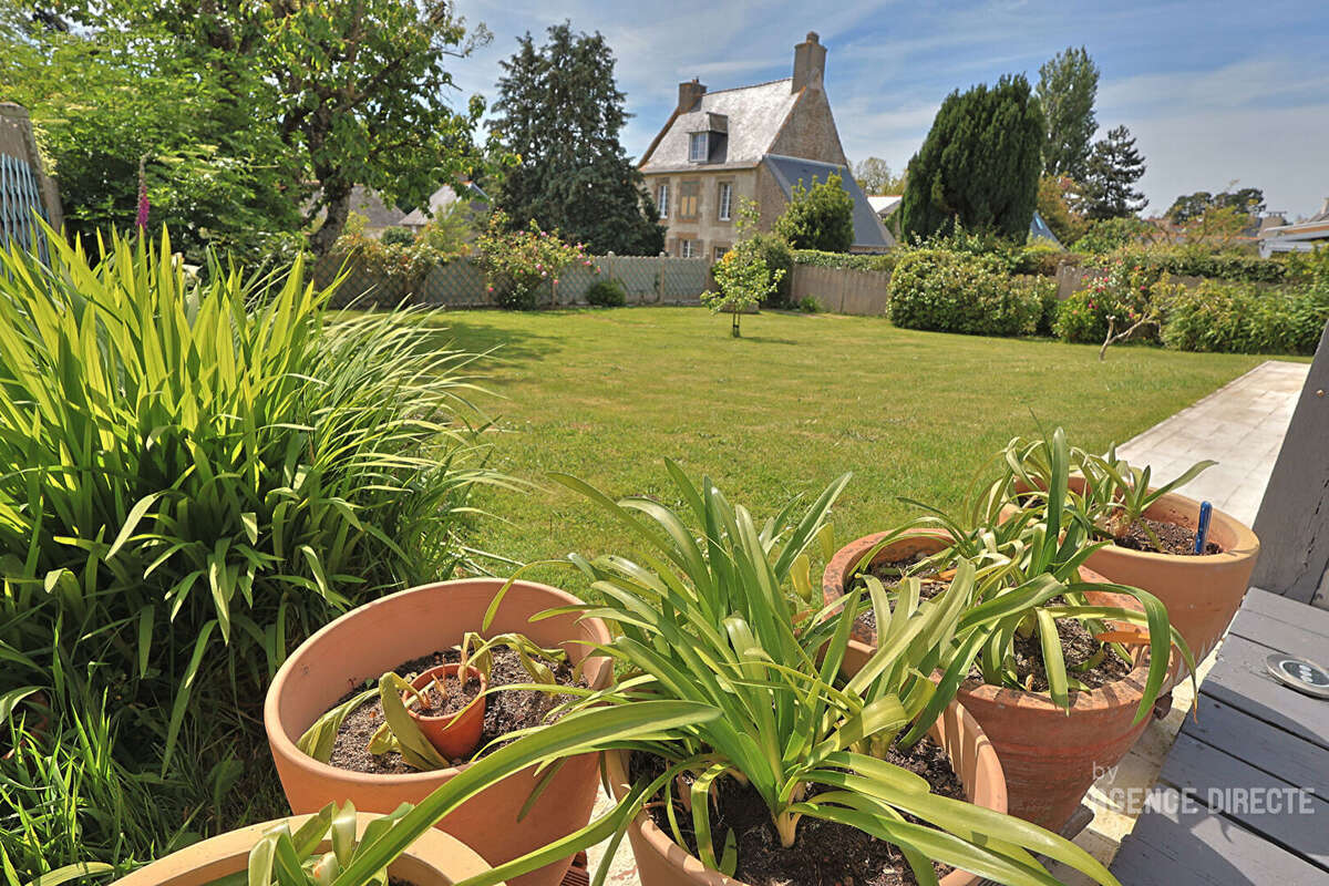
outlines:
[[[1003,814],[1001,765],[946,695],[956,681],[925,676],[1023,600],[966,616],[977,578],[968,562],[932,599],[913,579],[893,603],[874,588],[880,647],[849,662],[859,591],[800,612],[789,587],[848,477],[787,530],[792,506],[758,523],[710,481],[699,489],[670,473],[691,522],[654,499],[613,501],[557,477],[643,549],[641,563],[574,558],[603,599],[578,608],[621,628],[603,652],[623,671],[618,687],[577,704],[675,699],[722,712],[606,753],[645,886],[869,882],[888,870],[946,886],[1050,882],[1030,853],[1116,882],[1078,846]]]

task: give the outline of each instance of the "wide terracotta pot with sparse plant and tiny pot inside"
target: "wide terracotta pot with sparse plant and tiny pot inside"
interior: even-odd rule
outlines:
[[[557,704],[545,692],[610,685],[609,659],[591,654],[593,646],[609,642],[602,622],[573,615],[532,622],[538,612],[579,603],[577,598],[520,580],[498,603],[504,586],[502,579],[474,578],[391,594],[343,615],[291,654],[268,688],[263,719],[292,810],[312,813],[352,801],[388,813],[403,802],[421,802],[474,765],[469,749],[440,753],[409,716],[421,699],[408,680],[435,665],[461,659],[484,665],[488,691],[481,695],[452,681],[464,704],[451,713],[445,707],[440,724],[453,724],[484,703],[481,754],[542,725]],[[505,642],[517,635],[528,644]],[[480,636],[488,644],[474,646]],[[537,665],[548,672],[545,679],[533,679]],[[439,826],[492,865],[512,861],[590,821],[598,762],[587,753],[550,770],[516,773],[486,785]],[[557,886],[571,855],[550,859],[546,869],[513,883]]]

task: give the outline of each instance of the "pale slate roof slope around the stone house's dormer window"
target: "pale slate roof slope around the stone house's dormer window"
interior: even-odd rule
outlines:
[[[791,92],[792,78],[756,86],[718,89],[702,96],[696,106],[674,117],[668,129],[642,161],[643,173],[696,169],[687,161],[688,134],[708,129],[707,114],[728,117],[728,139],[723,162],[707,163],[707,170],[756,166],[771,150],[799,94]]]

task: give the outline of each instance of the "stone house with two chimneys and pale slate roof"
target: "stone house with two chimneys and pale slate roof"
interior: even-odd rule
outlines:
[[[848,169],[823,89],[827,49],[816,33],[793,48],[793,76],[707,92],[696,78],[678,86],[678,106],[638,167],[668,227],[670,255],[715,260],[738,239],[742,199],[756,201],[762,230],[784,213],[793,186],[839,173],[853,197],[855,252],[884,252],[882,227]]]

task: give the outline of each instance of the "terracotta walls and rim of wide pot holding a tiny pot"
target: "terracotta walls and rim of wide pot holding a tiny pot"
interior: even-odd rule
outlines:
[[[328,802],[350,800],[356,809],[387,813],[403,802],[420,802],[461,770],[348,772],[306,756],[295,743],[365,679],[377,679],[404,660],[449,648],[460,643],[466,631],[478,631],[485,610],[502,584],[502,579],[477,578],[400,591],[347,612],[300,644],[278,671],[263,707],[268,745],[292,810],[316,812]],[[489,634],[521,632],[540,646],[561,646],[574,662],[581,662],[587,655],[587,643],[609,643],[602,622],[578,622],[575,615],[530,620],[537,612],[577,602],[554,587],[516,582]],[[613,667],[607,659],[597,656],[587,663],[585,676],[594,688],[603,688],[613,679]],[[472,797],[439,828],[472,846],[490,865],[520,858],[590,821],[598,769],[598,754],[566,760],[530,812],[518,821],[537,782],[534,769],[526,769]],[[570,863],[569,857],[510,882],[513,886],[557,886]]]

